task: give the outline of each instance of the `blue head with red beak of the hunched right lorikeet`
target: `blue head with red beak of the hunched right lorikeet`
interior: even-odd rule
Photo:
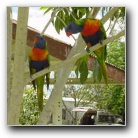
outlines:
[[[77,25],[75,22],[71,22],[66,28],[65,32],[67,36],[70,36],[72,34],[77,34],[81,32],[83,29],[82,25]]]

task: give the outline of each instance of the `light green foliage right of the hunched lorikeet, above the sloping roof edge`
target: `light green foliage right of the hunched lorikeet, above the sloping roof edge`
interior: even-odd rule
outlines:
[[[108,63],[125,70],[125,43],[121,41],[113,41],[107,47]]]

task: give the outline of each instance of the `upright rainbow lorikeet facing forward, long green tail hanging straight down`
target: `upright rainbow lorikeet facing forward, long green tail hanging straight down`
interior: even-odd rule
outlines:
[[[34,38],[34,47],[29,53],[29,69],[30,75],[48,68],[50,66],[49,62],[49,52],[47,50],[47,42],[41,35],[36,35]],[[47,90],[49,89],[49,73],[46,74]],[[32,81],[33,87],[36,90],[37,87],[37,97],[39,110],[43,110],[43,87],[45,83],[45,75],[40,76]]]

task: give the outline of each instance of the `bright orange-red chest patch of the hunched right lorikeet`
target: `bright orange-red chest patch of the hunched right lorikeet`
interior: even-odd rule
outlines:
[[[100,30],[100,22],[98,20],[87,20],[81,34],[87,37],[94,35],[98,30]]]

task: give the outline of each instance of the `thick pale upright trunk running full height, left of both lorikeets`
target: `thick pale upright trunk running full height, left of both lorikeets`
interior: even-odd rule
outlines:
[[[13,79],[10,94],[10,106],[8,110],[8,125],[18,125],[20,106],[22,102],[22,91],[24,85],[25,70],[25,49],[27,40],[27,24],[28,24],[29,8],[18,8],[18,23],[16,31],[15,55],[13,63]]]

